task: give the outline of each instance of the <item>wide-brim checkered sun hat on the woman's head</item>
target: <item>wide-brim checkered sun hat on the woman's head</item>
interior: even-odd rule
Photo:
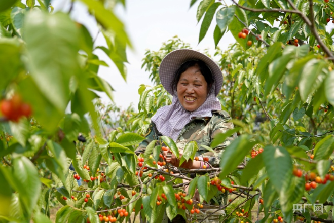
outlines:
[[[168,93],[173,95],[171,83],[178,68],[189,60],[202,60],[211,70],[214,79],[215,91],[217,96],[222,86],[222,72],[219,66],[207,55],[191,49],[178,49],[167,54],[161,61],[159,77],[162,86]]]

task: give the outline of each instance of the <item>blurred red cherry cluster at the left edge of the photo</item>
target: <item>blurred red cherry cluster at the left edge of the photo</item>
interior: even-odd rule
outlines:
[[[4,117],[12,122],[18,122],[22,116],[31,116],[31,106],[24,103],[21,96],[18,94],[13,95],[9,100],[0,101],[0,111]]]

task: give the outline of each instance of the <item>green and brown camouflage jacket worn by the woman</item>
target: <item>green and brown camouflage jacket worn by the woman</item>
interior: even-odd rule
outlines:
[[[223,110],[212,112],[212,117],[194,118],[183,127],[175,143],[177,147],[182,150],[187,143],[196,141],[199,150],[196,152],[195,156],[208,157],[209,163],[213,167],[218,167],[224,148],[229,145],[237,135],[234,134],[233,136],[228,137],[225,142],[214,147],[213,150],[216,153],[210,152],[200,145],[210,146],[215,135],[233,129],[234,126],[233,123],[229,122],[230,120],[230,115]],[[151,122],[146,131],[145,139],[139,144],[136,151],[139,153],[144,152],[146,146],[153,140],[160,140],[160,136],[162,135],[158,132],[156,125]]]

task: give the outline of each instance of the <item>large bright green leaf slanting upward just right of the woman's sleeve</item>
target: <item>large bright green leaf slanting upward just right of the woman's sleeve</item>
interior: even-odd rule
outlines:
[[[220,167],[222,169],[220,173],[221,179],[232,172],[245,156],[249,154],[251,148],[256,144],[256,142],[250,141],[250,139],[248,135],[241,135],[226,147],[224,156],[220,160]]]

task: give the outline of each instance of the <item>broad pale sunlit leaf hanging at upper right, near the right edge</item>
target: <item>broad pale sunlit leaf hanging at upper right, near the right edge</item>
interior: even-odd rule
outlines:
[[[311,59],[309,60],[301,73],[301,79],[299,81],[299,93],[303,101],[306,100],[308,95],[320,87],[322,81],[324,81],[321,75],[322,69],[327,66],[324,60]]]

